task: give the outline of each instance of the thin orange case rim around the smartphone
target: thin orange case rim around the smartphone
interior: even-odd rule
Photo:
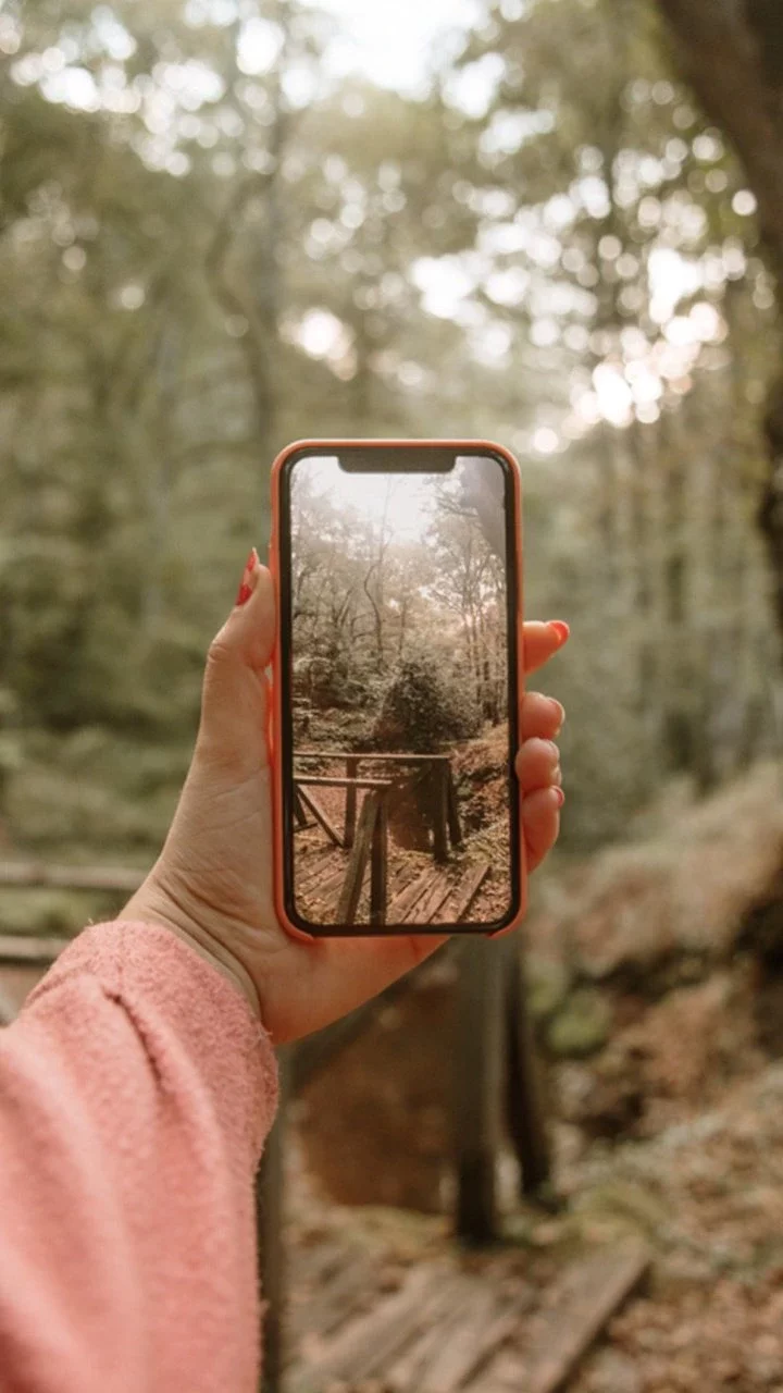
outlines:
[[[514,506],[514,538],[515,538],[515,573],[517,573],[517,595],[515,595],[515,628],[517,628],[517,692],[521,699],[525,690],[525,655],[524,655],[524,582],[522,582],[522,485],[521,474],[517,458],[504,446],[496,444],[493,440],[451,440],[451,439],[426,439],[426,440],[394,440],[394,439],[379,439],[368,440],[364,437],[354,439],[309,439],[309,440],[294,440],[291,444],[286,446],[280,454],[276,457],[272,465],[272,535],[269,540],[269,570],[274,582],[274,593],[277,600],[277,616],[280,618],[280,574],[281,574],[281,556],[280,556],[280,485],[283,476],[283,468],[286,462],[294,454],[301,454],[304,450],[323,450],[325,447],[333,449],[336,453],[347,449],[393,449],[393,450],[426,450],[426,449],[453,449],[460,454],[470,453],[488,453],[500,456],[509,465],[511,482],[513,482],[513,506]],[[274,908],[280,924],[286,928],[288,933],[298,939],[312,940],[315,937],[329,937],[340,936],[341,931],[339,925],[330,926],[330,933],[305,933],[295,924],[291,922],[286,908],[286,827],[283,816],[283,758],[281,758],[281,729],[283,729],[283,644],[280,634],[280,623],[277,623],[277,634],[274,641],[274,653],[272,659],[272,674],[273,674],[273,701],[272,701],[272,731],[270,731],[270,752],[272,752],[272,773],[273,773],[273,851],[274,851]],[[521,798],[521,794],[520,794]],[[525,847],[524,839],[521,836],[521,807],[520,807],[520,839],[518,839],[518,857],[520,857],[520,903],[514,907],[513,917],[509,924],[495,932],[488,932],[489,937],[503,937],[506,933],[511,933],[520,926],[525,917],[527,910],[527,889],[528,876],[525,865]],[[362,926],[361,936],[365,937],[380,937],[383,933],[390,931],[372,931],[369,926]],[[398,932],[398,931],[397,931]],[[417,932],[426,933],[428,931],[421,926]],[[460,925],[436,925],[433,931],[439,933],[460,933],[460,932],[475,932],[461,929]],[[481,931],[479,931],[481,932]],[[351,931],[355,933],[355,931]],[[355,936],[359,936],[357,933]]]

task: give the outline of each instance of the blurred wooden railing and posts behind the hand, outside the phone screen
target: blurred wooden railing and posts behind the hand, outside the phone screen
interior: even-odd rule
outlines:
[[[0,889],[56,885],[124,896],[138,889],[141,880],[141,872],[127,868],[52,866],[31,861],[0,864]],[[45,970],[67,942],[0,933],[0,979],[1,964]],[[490,943],[471,935],[451,951],[458,954],[460,965],[453,1089],[454,1231],[468,1243],[483,1244],[497,1236],[499,1227],[495,1177],[502,1133],[511,1139],[520,1160],[521,1188],[529,1197],[541,1195],[549,1183],[549,1145],[517,936]],[[280,1110],[256,1180],[259,1268],[266,1301],[263,1393],[284,1390],[286,1103],[307,1078],[323,1070],[339,1049],[366,1028],[379,1009],[405,990],[408,982],[410,978],[387,988],[343,1021],[280,1052]]]

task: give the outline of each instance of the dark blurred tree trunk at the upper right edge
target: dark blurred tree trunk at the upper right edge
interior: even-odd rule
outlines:
[[[658,0],[685,79],[744,166],[763,248],[783,283],[783,25],[779,0]],[[779,290],[780,297],[780,290]],[[769,472],[759,525],[773,570],[783,634],[783,364],[765,435]]]

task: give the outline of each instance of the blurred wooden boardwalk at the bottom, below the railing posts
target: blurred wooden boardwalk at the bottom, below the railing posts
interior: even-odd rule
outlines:
[[[284,1393],[556,1393],[649,1265],[630,1241],[536,1283],[518,1252],[443,1247],[400,1270],[334,1240],[294,1248]]]

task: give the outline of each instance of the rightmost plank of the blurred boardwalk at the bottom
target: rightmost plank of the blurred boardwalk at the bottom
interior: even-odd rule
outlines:
[[[566,1385],[607,1321],[646,1276],[649,1261],[639,1243],[628,1243],[574,1265],[528,1350],[520,1393],[557,1393]]]

